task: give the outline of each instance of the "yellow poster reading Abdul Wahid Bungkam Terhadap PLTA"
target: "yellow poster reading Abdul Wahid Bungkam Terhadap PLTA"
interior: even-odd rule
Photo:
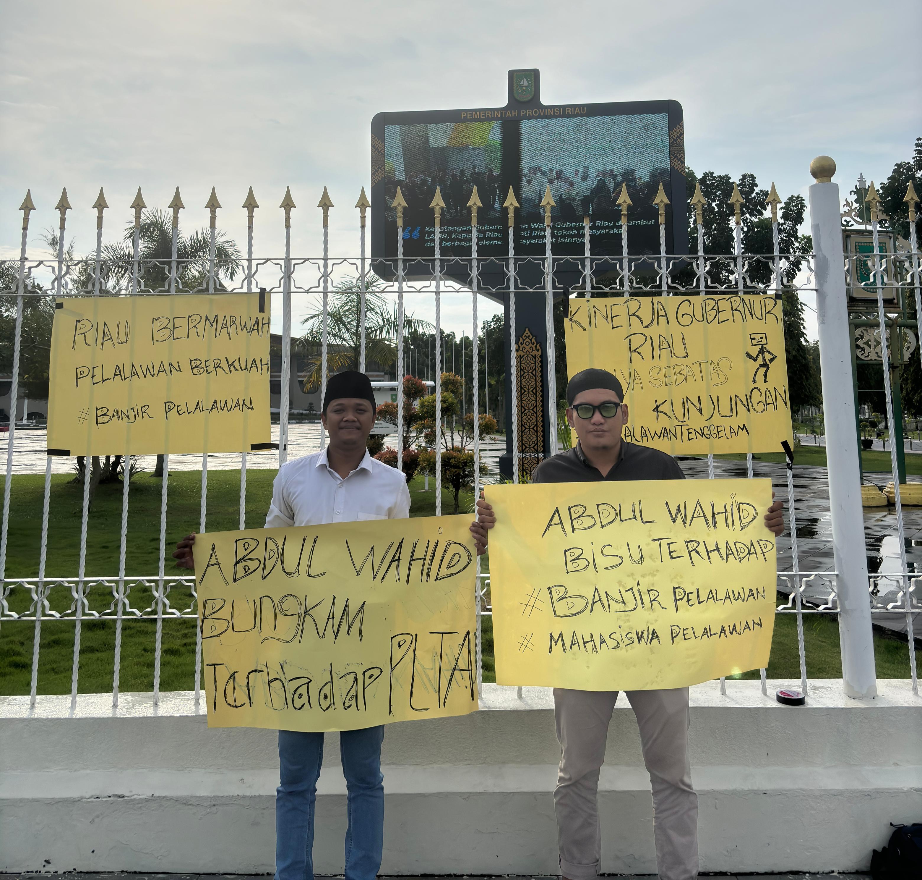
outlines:
[[[478,708],[469,517],[195,541],[210,727],[357,730]]]

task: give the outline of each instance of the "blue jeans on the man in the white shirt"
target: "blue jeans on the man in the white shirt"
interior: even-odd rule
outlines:
[[[384,725],[339,732],[349,827],[346,880],[374,880],[384,849]],[[324,760],[324,734],[278,731],[276,880],[313,880],[313,805]]]

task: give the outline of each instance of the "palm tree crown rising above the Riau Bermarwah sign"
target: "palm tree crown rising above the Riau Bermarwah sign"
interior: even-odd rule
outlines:
[[[172,258],[172,218],[160,208],[141,214],[138,246],[139,287],[165,291],[170,287]],[[176,234],[177,291],[207,290],[211,233],[199,229],[191,235]],[[135,259],[135,227],[125,227],[124,240],[102,248],[100,276],[107,286],[118,285],[131,278]],[[88,260],[89,262],[89,260]],[[215,231],[216,291],[225,290],[221,279],[233,280],[241,268],[241,252],[226,232]]]

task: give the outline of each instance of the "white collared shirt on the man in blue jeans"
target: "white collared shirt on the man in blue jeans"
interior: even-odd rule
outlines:
[[[359,467],[340,477],[329,466],[324,449],[278,469],[266,529],[408,516],[409,490],[403,471],[372,458],[366,450]]]

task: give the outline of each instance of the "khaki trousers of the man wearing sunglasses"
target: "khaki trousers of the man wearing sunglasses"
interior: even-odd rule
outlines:
[[[653,788],[656,867],[662,880],[698,876],[698,796],[688,755],[689,691],[627,691]],[[561,874],[594,880],[601,858],[598,774],[618,691],[554,688],[561,767],[554,789]]]

